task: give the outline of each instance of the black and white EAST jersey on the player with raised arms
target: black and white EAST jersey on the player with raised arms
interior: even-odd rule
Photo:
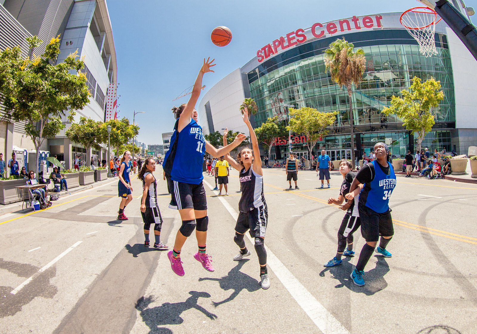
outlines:
[[[239,178],[242,187],[242,197],[239,202],[240,212],[249,212],[265,204],[263,176],[254,172],[252,167],[250,166],[248,171],[245,168],[240,171]]]

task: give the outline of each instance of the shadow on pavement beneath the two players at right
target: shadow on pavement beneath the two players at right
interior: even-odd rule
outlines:
[[[364,272],[364,286],[354,285],[353,280],[350,278],[350,274],[354,269],[354,264],[349,263],[350,258],[342,258],[343,263],[334,267],[325,268],[320,272],[320,276],[324,277],[325,273],[329,271],[332,274],[332,278],[340,281],[340,284],[335,288],[342,288],[346,286],[353,292],[363,293],[367,296],[373,295],[387,287],[387,282],[384,279],[384,275],[389,272],[389,265],[383,256],[375,256],[378,259],[376,267],[369,272]]]

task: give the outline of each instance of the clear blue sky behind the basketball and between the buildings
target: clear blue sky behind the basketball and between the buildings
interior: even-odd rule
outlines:
[[[194,83],[204,57],[217,63],[215,73],[204,76],[207,91],[251,60],[263,45],[292,30],[353,15],[404,11],[419,4],[416,0],[108,0],[120,83],[119,117],[132,121],[133,110],[145,111],[135,118],[141,128],[137,139],[161,144],[161,134],[174,126],[170,109],[188,100],[172,99]],[[228,46],[217,47],[210,41],[217,26],[232,31]]]

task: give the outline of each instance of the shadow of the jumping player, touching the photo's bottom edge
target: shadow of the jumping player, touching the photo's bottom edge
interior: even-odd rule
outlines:
[[[161,306],[148,308],[149,304],[155,301],[153,296],[141,297],[136,303],[136,309],[140,311],[143,322],[151,329],[149,334],[172,334],[168,328],[158,327],[164,325],[182,324],[184,319],[180,315],[192,308],[205,314],[210,320],[217,319],[217,315],[208,312],[205,308],[197,304],[199,297],[209,298],[207,292],[190,291],[191,295],[185,302],[164,303]]]

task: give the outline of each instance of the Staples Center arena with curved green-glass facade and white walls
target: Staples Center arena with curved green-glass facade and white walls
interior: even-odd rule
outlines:
[[[421,55],[416,40],[401,25],[400,15],[384,13],[317,22],[311,28],[297,29],[270,41],[256,51],[255,58],[204,95],[199,105],[204,133],[223,133],[227,127],[248,134],[239,106],[250,97],[259,108],[251,119],[254,127],[272,116],[288,122],[289,106],[338,111],[329,135],[317,143],[314,152],[325,149],[332,160],[350,158],[348,93],[345,86],[340,89],[331,80],[323,55],[332,41],[344,36],[355,49],[363,48],[366,57],[363,81],[358,87],[353,85],[357,156],[369,154],[376,142],[385,142],[396,155],[404,155],[408,149],[415,152],[417,134],[406,131],[396,116],[382,113],[391,97],[408,89],[415,76],[440,81],[445,95],[433,110],[436,124],[426,135],[423,148],[432,152],[435,148],[447,152],[455,149],[467,154],[468,146],[477,145],[477,61],[444,20],[436,24],[437,54]],[[293,151],[308,158],[306,138],[292,134],[290,139]],[[271,156],[283,158],[289,144],[286,138],[277,140]]]

